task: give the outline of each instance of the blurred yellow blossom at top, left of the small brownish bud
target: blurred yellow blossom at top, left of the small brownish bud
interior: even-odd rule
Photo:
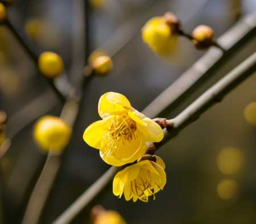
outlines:
[[[177,35],[164,22],[163,17],[150,19],[142,28],[142,39],[160,55],[170,54],[177,45]]]

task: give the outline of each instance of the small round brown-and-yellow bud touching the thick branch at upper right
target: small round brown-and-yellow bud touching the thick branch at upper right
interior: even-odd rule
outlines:
[[[197,49],[209,48],[214,42],[214,32],[209,26],[197,26],[193,32],[193,43]]]

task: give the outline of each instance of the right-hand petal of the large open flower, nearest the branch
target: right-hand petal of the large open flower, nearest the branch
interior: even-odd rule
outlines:
[[[147,126],[137,125],[138,129],[143,133],[146,141],[148,142],[160,142],[163,140],[164,134],[162,128],[149,118],[144,118],[143,122]]]

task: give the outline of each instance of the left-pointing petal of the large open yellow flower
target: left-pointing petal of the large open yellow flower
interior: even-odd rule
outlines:
[[[88,126],[84,132],[84,141],[89,146],[100,149],[101,139],[103,136],[105,136],[106,133],[108,133],[108,126],[111,119],[112,116],[109,116],[106,119],[96,121]]]

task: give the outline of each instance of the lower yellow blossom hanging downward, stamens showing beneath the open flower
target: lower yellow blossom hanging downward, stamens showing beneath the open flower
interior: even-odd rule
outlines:
[[[121,197],[125,195],[125,200],[133,201],[138,199],[144,202],[148,197],[163,189],[166,184],[165,164],[160,157],[156,157],[156,162],[150,160],[139,161],[115,175],[113,180],[113,193]]]

